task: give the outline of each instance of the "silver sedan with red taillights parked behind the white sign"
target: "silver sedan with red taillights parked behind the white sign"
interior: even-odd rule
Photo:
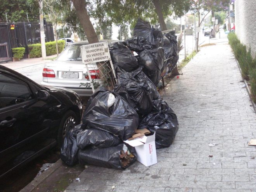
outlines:
[[[100,42],[107,41],[108,43],[116,42],[116,40],[100,40]],[[69,45],[62,53],[57,57],[55,61],[45,64],[43,68],[43,81],[42,85],[65,87],[80,96],[92,95],[92,88],[90,87],[90,80],[86,70],[86,66],[83,65],[81,50],[82,45],[88,44],[87,41],[81,41]],[[96,63],[88,64],[90,74],[93,81],[99,82],[99,70]],[[83,87],[81,83],[89,86]]]

